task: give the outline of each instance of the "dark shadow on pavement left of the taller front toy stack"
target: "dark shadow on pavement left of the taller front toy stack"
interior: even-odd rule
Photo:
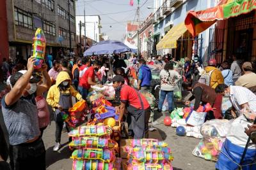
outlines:
[[[46,150],[46,155],[45,155],[46,167],[51,166],[55,162],[58,162],[58,160],[70,158],[72,151],[68,148],[67,144],[68,142],[63,143],[58,152],[54,152],[52,150],[53,146]]]

